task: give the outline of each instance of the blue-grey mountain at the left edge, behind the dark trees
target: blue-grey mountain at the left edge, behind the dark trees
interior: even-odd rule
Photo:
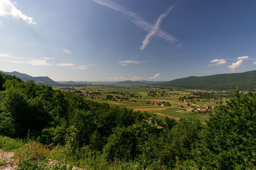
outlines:
[[[33,76],[29,76],[28,74],[19,73],[17,71],[13,71],[13,72],[0,71],[0,72],[4,73],[4,74],[9,74],[9,75],[12,75],[12,76],[16,76],[17,78],[20,78],[21,80],[23,80],[25,82],[27,82],[29,80],[34,80],[35,83],[37,83],[37,84],[58,85],[58,83],[56,83],[55,81],[51,80],[51,78],[49,78],[47,76],[33,77]]]

